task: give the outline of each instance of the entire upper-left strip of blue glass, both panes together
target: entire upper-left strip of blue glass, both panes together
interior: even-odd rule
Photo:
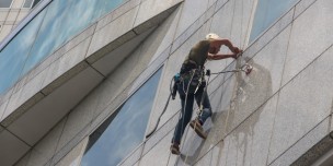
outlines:
[[[53,0],[1,50],[0,95],[57,48],[125,1]]]

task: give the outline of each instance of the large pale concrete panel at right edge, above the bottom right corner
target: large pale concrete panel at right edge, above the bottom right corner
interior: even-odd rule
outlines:
[[[280,91],[269,162],[329,116],[332,51],[325,51]]]

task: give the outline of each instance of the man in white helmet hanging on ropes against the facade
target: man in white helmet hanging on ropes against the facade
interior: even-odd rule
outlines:
[[[232,54],[218,54],[222,45],[227,46]],[[181,76],[177,83],[177,92],[182,102],[182,115],[172,138],[170,147],[172,154],[180,154],[180,143],[185,127],[192,118],[194,99],[202,109],[199,116],[191,121],[190,126],[200,138],[206,139],[203,124],[206,119],[211,116],[210,102],[207,91],[205,91],[204,64],[206,60],[237,59],[241,51],[242,50],[234,47],[229,39],[220,38],[217,34],[213,33],[208,34],[204,40],[198,42],[191,49],[182,64]]]

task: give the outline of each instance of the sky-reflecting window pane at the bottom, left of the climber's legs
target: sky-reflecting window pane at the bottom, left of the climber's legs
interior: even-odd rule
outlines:
[[[105,131],[93,133],[101,137],[91,137],[81,166],[117,165],[142,142],[160,75],[161,70],[119,108]]]

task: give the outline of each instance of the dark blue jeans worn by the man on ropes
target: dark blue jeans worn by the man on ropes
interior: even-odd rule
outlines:
[[[205,92],[204,90],[205,90],[205,86],[202,85],[195,94],[188,93],[187,99],[186,99],[186,94],[184,92],[182,83],[179,85],[177,91],[179,91],[179,94],[180,94],[180,98],[182,100],[182,115],[181,115],[181,118],[180,118],[180,120],[179,120],[179,122],[175,127],[172,142],[175,142],[175,143],[179,143],[179,144],[181,143],[182,135],[184,133],[185,127],[187,126],[187,123],[190,122],[190,120],[192,118],[194,99],[196,100],[196,104],[199,106],[200,103],[202,103],[202,97],[204,95],[203,111],[198,116],[198,119],[200,120],[200,122],[204,123],[206,121],[206,119],[211,116],[210,102],[209,102],[207,92]]]

